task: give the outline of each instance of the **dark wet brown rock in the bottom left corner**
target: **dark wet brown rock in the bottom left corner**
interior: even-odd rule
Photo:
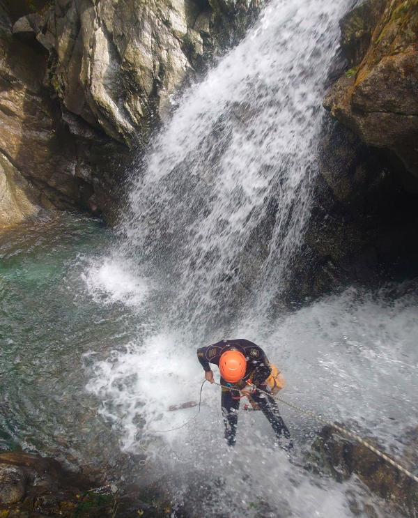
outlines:
[[[148,503],[141,499],[146,498]],[[117,512],[117,514],[116,514]],[[0,516],[40,518],[167,517],[162,492],[65,471],[54,459],[0,452]]]

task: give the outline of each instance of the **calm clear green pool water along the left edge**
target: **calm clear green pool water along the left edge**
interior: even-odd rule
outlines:
[[[115,463],[118,438],[85,390],[84,356],[106,358],[137,326],[84,282],[86,261],[111,241],[100,221],[65,214],[0,234],[0,449]]]

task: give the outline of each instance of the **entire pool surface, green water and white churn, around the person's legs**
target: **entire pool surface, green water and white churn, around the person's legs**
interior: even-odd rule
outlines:
[[[373,505],[378,517],[396,516],[357,478],[337,484],[297,466],[320,425],[284,405],[295,464],[274,447],[260,413],[240,411],[238,441],[230,451],[219,388],[208,383],[198,418],[174,432],[158,432],[196,412],[169,406],[199,397],[200,343],[187,339],[180,326],[155,321],[153,287],[136,306],[109,302],[102,283],[91,298],[82,274],[92,263],[102,264],[99,254],[109,235],[101,232],[97,223],[70,221],[67,228],[37,227],[25,234],[29,246],[19,236],[15,244],[10,238],[0,245],[0,376],[7,379],[0,385],[2,448],[13,447],[12,439],[73,467],[116,463],[107,470],[127,477],[130,471],[118,468],[119,445],[132,457],[130,470],[137,463],[137,481],[151,493],[152,482],[163,487],[180,515],[351,517],[370,516]],[[140,295],[141,283],[134,285]],[[391,300],[349,289],[270,325],[242,320],[229,336],[263,346],[286,376],[285,399],[371,434],[399,456],[405,430],[416,426],[416,315],[414,296]]]

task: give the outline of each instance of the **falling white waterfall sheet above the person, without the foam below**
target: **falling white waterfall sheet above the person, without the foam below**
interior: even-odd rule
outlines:
[[[173,321],[228,321],[280,294],[309,218],[325,80],[346,0],[274,0],[178,100],[134,172],[125,254]]]

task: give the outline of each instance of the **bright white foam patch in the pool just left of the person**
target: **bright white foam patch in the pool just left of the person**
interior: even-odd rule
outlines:
[[[196,412],[169,407],[199,401],[199,374],[196,354],[189,353],[181,338],[160,333],[95,363],[87,388],[104,401],[104,417],[121,427],[123,449],[135,451],[144,436],[179,427]],[[175,437],[164,436],[169,441]]]

